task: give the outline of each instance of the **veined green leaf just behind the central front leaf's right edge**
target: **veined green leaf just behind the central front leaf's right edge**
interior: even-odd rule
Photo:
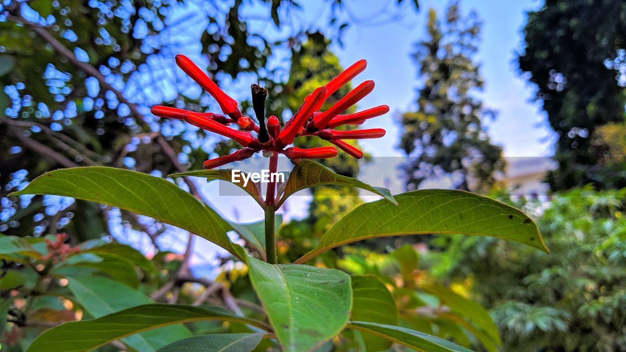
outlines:
[[[351,275],[352,320],[374,323],[398,324],[398,309],[385,284],[374,275]],[[379,336],[363,334],[367,351],[382,351],[391,342]]]

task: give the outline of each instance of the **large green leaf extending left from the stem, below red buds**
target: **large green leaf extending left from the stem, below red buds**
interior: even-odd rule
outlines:
[[[90,200],[147,215],[204,237],[235,254],[232,230],[208,205],[165,179],[112,167],[73,167],[44,173],[19,192]],[[237,255],[237,254],[235,254]]]

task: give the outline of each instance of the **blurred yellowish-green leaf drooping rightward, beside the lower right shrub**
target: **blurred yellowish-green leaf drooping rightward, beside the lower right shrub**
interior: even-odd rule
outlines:
[[[420,286],[419,288],[437,296],[441,303],[445,304],[456,313],[461,314],[461,316],[473,321],[476,326],[485,331],[496,344],[500,344],[498,326],[496,326],[493,319],[491,319],[489,312],[480,304],[470,301],[463,296],[459,296],[456,292],[441,285]]]

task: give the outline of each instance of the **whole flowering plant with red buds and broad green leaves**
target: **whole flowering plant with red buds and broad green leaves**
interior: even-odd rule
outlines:
[[[333,348],[332,345],[338,351],[351,348],[379,351],[390,348],[393,343],[416,351],[469,351],[434,336],[436,333],[433,331],[399,326],[400,308],[417,314],[418,308],[426,304],[412,291],[416,279],[411,274],[416,269],[416,259],[407,259],[406,253],[402,254],[404,251],[396,254],[406,281],[404,286],[385,279],[377,271],[371,275],[349,275],[339,269],[324,267],[321,263],[312,262],[318,264],[315,266],[305,263],[324,251],[362,239],[420,234],[490,236],[547,251],[535,223],[520,210],[496,200],[458,190],[416,190],[391,195],[389,190],[337,175],[331,169],[308,160],[334,157],[337,155],[335,147],[360,158],[361,151],[344,140],[379,138],[384,135],[384,130],[379,128],[349,131],[335,129],[341,125],[360,124],[389,110],[388,106],[382,105],[359,113],[340,115],[372,91],[372,81],[357,86],[326,111],[319,111],[332,93],[364,70],[365,61],[357,62],[327,85],[312,91],[282,127],[275,116],[269,116],[266,121],[264,101],[267,91],[264,88],[252,85],[255,122],[245,116],[237,102],[185,56],[177,56],[177,63],[217,100],[225,115],[196,113],[166,106],[155,106],[153,113],[165,118],[185,120],[231,138],[242,148],[225,157],[207,160],[204,163],[206,170],[178,173],[172,177],[196,176],[233,182],[231,170],[217,168],[244,160],[257,152],[270,158],[270,171],[276,170],[279,154],[294,163],[284,184],[269,182],[265,199],[260,195],[259,185],[234,182],[264,208],[265,232],[255,233],[242,224],[222,219],[215,210],[173,182],[117,168],[55,170],[38,177],[13,195],[54,194],[91,200],[153,217],[203,237],[230,252],[233,259],[245,263],[249,282],[255,292],[252,300],[261,304],[262,314],[245,314],[216,306],[140,304],[95,319],[56,326],[35,339],[28,351],[91,351],[118,340],[128,348],[140,351],[149,350],[146,344],[153,342],[150,346],[157,344],[158,352],[202,348],[220,351],[274,348],[302,352],[318,348],[329,350]],[[237,128],[232,128],[235,125]],[[334,147],[289,147],[294,138],[301,136],[317,136],[329,141]],[[327,230],[312,251],[294,263],[278,264],[275,210],[295,192],[324,184],[358,187],[381,195],[383,199],[352,210]],[[232,242],[227,236],[228,232],[237,232],[244,238],[246,248]],[[59,244],[49,246],[56,248]],[[63,251],[67,252],[67,249]],[[28,253],[24,248],[18,250],[22,254]],[[58,275],[63,276],[64,273],[59,272]],[[495,349],[500,341],[498,331],[484,309],[476,308],[450,291],[431,289],[429,292],[451,309],[458,309],[471,316],[473,320],[466,322],[464,327],[473,331],[490,351]],[[183,327],[183,330],[176,331],[159,330],[158,341],[146,337],[146,333],[152,329],[196,321],[228,322],[222,328],[230,333],[190,336],[190,331]],[[150,336],[155,338],[155,334]],[[347,344],[347,339],[353,344]]]

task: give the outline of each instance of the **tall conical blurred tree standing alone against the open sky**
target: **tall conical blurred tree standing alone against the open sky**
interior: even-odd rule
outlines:
[[[419,41],[414,60],[423,87],[416,111],[401,116],[400,147],[411,158],[406,165],[409,189],[430,177],[450,175],[454,187],[483,190],[503,168],[501,148],[491,144],[483,120],[495,111],[472,95],[483,88],[473,62],[481,23],[475,13],[461,15],[451,3],[443,25],[429,11],[428,39]]]

